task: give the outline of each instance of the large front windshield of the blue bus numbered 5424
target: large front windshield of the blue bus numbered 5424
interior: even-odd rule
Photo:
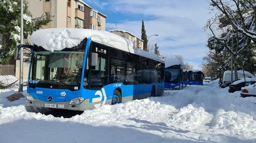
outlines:
[[[77,90],[81,84],[84,49],[66,48],[46,51],[35,46],[29,87]],[[40,50],[41,49],[41,50]]]

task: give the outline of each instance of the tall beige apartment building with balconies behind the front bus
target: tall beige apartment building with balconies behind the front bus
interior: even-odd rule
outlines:
[[[32,19],[51,18],[42,28],[86,28],[106,30],[106,15],[93,9],[82,0],[25,0]],[[29,62],[23,63],[23,78],[27,79]],[[16,77],[20,75],[20,61],[16,61]]]

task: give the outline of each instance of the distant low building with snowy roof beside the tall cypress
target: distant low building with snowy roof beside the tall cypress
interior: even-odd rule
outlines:
[[[143,40],[131,34],[130,32],[125,30],[119,30],[119,29],[111,30],[109,32],[112,32],[113,34],[117,34],[119,36],[127,38],[128,40],[132,41],[137,48],[143,49]]]

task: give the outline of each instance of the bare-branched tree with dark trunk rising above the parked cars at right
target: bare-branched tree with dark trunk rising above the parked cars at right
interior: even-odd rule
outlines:
[[[212,35],[209,41],[216,40],[218,44],[229,50],[231,70],[234,68],[237,75],[237,57],[241,51],[250,47],[251,41],[256,41],[255,0],[210,0],[210,2],[216,15],[206,24]]]

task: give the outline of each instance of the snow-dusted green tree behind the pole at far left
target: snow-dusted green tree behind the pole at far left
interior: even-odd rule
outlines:
[[[33,31],[38,30],[42,25],[46,25],[51,19],[44,16],[32,19],[28,11],[27,2],[23,3],[23,32],[24,38],[31,35]],[[17,43],[20,43],[20,23],[21,21],[21,0],[1,0],[0,1],[0,34],[2,43],[0,49],[1,61],[6,63],[13,56],[13,50]]]

